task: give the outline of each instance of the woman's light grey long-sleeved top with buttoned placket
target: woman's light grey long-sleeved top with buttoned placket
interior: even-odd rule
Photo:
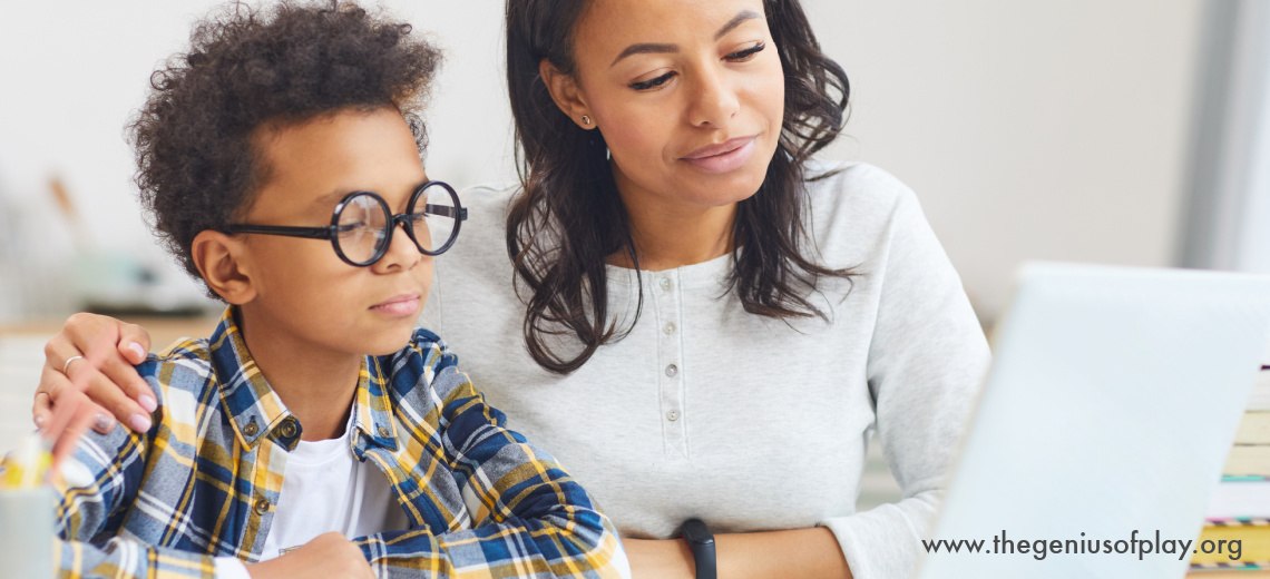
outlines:
[[[622,536],[831,528],[860,579],[908,576],[988,368],[983,330],[917,197],[864,164],[809,184],[805,255],[829,321],[761,317],[728,291],[729,258],[664,272],[607,268],[611,312],[639,323],[560,377],[525,347],[505,223],[513,188],[469,207],[420,323],[508,425],[551,452]],[[818,250],[818,253],[817,253]],[[625,328],[621,324],[620,328]],[[878,434],[904,499],[856,513]]]

